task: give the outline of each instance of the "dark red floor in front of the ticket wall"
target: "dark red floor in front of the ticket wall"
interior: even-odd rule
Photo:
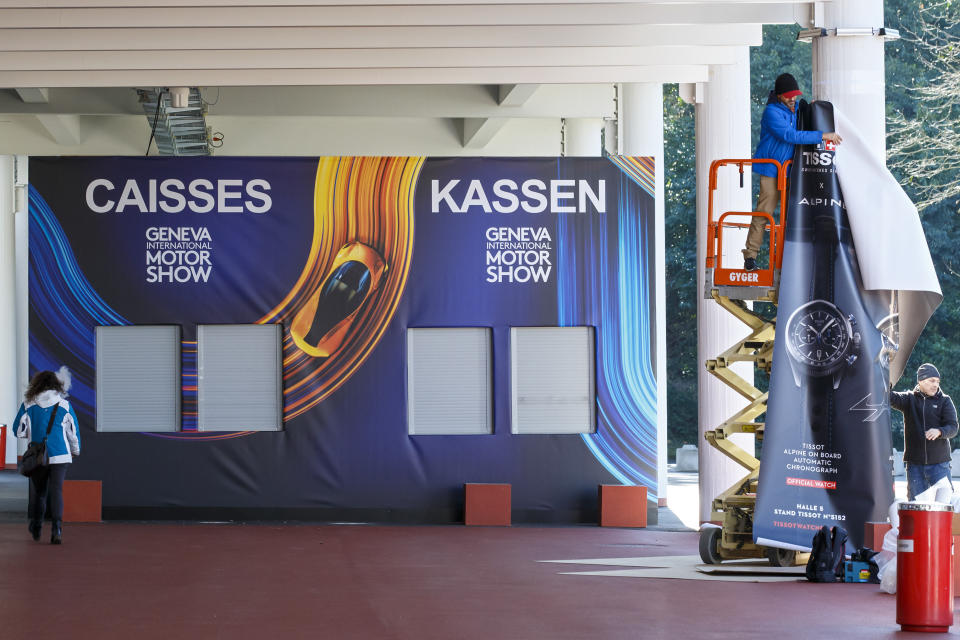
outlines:
[[[559,572],[601,567],[536,562],[695,555],[695,533],[108,523],[68,525],[60,547],[47,537],[0,524],[2,640],[899,635],[895,598],[875,585],[571,576]]]

